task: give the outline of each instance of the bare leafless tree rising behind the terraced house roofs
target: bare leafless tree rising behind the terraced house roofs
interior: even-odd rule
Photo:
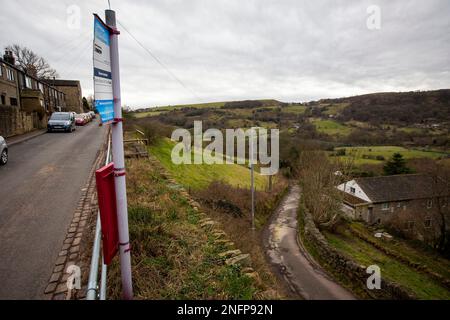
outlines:
[[[40,79],[52,79],[58,77],[58,73],[53,69],[48,62],[37,55],[33,50],[27,47],[22,47],[18,44],[13,44],[6,47],[13,53],[16,59],[16,65],[22,68],[27,74]]]

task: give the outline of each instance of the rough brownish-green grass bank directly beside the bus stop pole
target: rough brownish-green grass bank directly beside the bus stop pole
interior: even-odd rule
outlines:
[[[127,163],[129,226],[136,299],[254,299],[258,285],[219,254],[229,250],[201,228],[188,200],[147,160]],[[118,259],[108,297],[121,298]]]

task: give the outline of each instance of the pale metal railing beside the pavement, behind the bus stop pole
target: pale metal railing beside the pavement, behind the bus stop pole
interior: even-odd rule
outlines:
[[[106,162],[105,165],[111,163],[111,135],[108,139],[108,151],[106,154]],[[88,288],[86,294],[86,300],[106,300],[106,290],[107,290],[107,273],[108,267],[103,262],[103,255],[101,252],[102,246],[102,224],[100,220],[100,212],[97,216],[97,226],[95,228],[95,239],[94,246],[92,249],[92,260],[91,260],[91,268],[89,271],[89,281]],[[100,273],[100,286],[98,285],[98,266],[100,263],[100,259],[102,261],[102,268]]]

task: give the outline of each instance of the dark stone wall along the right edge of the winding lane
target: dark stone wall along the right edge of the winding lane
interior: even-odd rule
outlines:
[[[326,263],[338,274],[344,276],[354,286],[363,288],[367,294],[375,299],[399,299],[411,300],[416,297],[407,292],[400,285],[382,279],[381,290],[367,289],[367,279],[369,275],[366,273],[368,266],[357,264],[352,259],[344,256],[332,248],[323,234],[316,227],[311,214],[304,207],[302,208],[303,224],[305,240],[311,244],[317,251],[319,258]]]

